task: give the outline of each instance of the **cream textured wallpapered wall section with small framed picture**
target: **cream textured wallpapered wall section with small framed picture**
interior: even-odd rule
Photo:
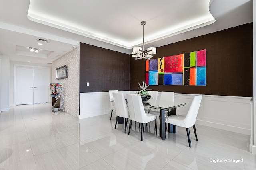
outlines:
[[[56,79],[56,68],[67,65],[68,78]],[[52,83],[62,83],[61,109],[79,117],[79,47],[52,62]]]

